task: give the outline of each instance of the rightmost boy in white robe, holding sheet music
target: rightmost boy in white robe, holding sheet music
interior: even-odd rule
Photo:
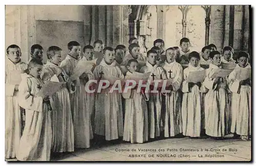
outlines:
[[[228,86],[232,92],[230,132],[241,135],[243,141],[251,136],[251,80],[240,80],[237,75],[242,69],[251,68],[248,60],[249,54],[241,51],[237,67],[228,76]]]

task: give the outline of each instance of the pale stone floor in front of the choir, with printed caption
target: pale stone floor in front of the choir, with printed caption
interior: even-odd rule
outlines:
[[[150,152],[139,149],[151,149]],[[184,151],[190,149],[190,151]],[[175,151],[177,150],[177,151]],[[208,151],[207,151],[208,150]],[[51,161],[250,161],[251,141],[227,138],[164,139],[144,144],[127,142],[93,145],[90,149],[76,149],[72,153],[58,153]],[[15,161],[15,159],[9,160]]]

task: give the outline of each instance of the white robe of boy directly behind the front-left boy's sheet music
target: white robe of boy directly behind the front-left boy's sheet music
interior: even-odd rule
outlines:
[[[65,71],[57,77],[57,71],[60,70],[57,65],[47,61],[42,69],[42,80],[51,80],[56,77],[59,82],[67,82],[68,75]],[[73,152],[74,151],[74,128],[71,115],[70,97],[67,89],[67,82],[53,96],[54,111],[52,112],[52,134],[53,134],[53,152]],[[71,86],[70,86],[71,87]]]

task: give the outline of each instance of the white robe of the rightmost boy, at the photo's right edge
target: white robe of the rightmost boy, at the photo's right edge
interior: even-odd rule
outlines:
[[[251,68],[248,64],[245,68]],[[240,80],[236,79],[236,73],[241,67],[237,67],[228,76],[228,86],[232,92],[231,98],[231,129],[239,135],[251,135],[251,87],[239,86]]]

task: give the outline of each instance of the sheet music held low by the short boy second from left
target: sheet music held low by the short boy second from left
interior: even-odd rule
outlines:
[[[65,84],[65,82],[53,82],[47,81],[44,86],[40,89],[40,91],[36,94],[36,96],[52,96],[55,92],[57,92],[60,87]]]

